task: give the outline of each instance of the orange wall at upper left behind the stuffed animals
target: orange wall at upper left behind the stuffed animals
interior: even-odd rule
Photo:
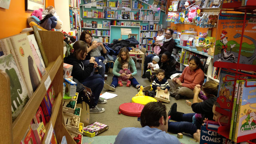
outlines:
[[[46,0],[46,7],[54,6],[54,0]],[[9,9],[0,8],[0,39],[20,33],[22,29],[29,27],[27,18],[32,12],[25,11],[24,0],[11,0]]]

